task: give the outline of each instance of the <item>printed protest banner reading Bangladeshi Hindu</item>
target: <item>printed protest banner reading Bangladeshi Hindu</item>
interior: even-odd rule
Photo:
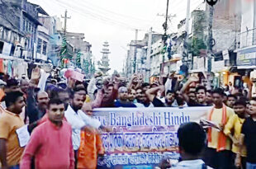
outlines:
[[[106,155],[97,168],[154,168],[163,157],[178,160],[178,127],[205,119],[211,107],[102,108],[94,110],[102,125],[113,133],[102,134]]]

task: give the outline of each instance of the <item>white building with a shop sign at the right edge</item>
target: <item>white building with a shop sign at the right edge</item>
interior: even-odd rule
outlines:
[[[252,86],[252,96],[256,96],[256,2],[241,1],[241,13],[239,45],[235,50],[237,71]]]

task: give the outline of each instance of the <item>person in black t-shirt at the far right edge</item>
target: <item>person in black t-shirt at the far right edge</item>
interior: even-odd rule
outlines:
[[[242,126],[242,134],[240,137],[240,145],[246,146],[247,158],[246,168],[256,168],[256,98],[250,101],[249,106],[250,117],[244,121]],[[240,148],[241,152],[241,148]]]

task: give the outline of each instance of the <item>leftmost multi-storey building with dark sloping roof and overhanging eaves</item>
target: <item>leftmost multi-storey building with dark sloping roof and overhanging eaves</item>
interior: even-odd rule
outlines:
[[[48,16],[40,6],[26,0],[0,2],[1,72],[13,77],[27,75],[28,62],[36,59],[37,28],[42,26],[39,15]]]

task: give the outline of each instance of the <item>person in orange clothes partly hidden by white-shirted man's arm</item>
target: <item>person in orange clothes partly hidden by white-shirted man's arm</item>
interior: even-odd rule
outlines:
[[[92,116],[92,105],[86,103],[83,105],[83,111]],[[92,134],[81,130],[81,142],[78,149],[78,169],[96,169],[98,155],[104,155],[102,147],[102,138],[100,134]]]

